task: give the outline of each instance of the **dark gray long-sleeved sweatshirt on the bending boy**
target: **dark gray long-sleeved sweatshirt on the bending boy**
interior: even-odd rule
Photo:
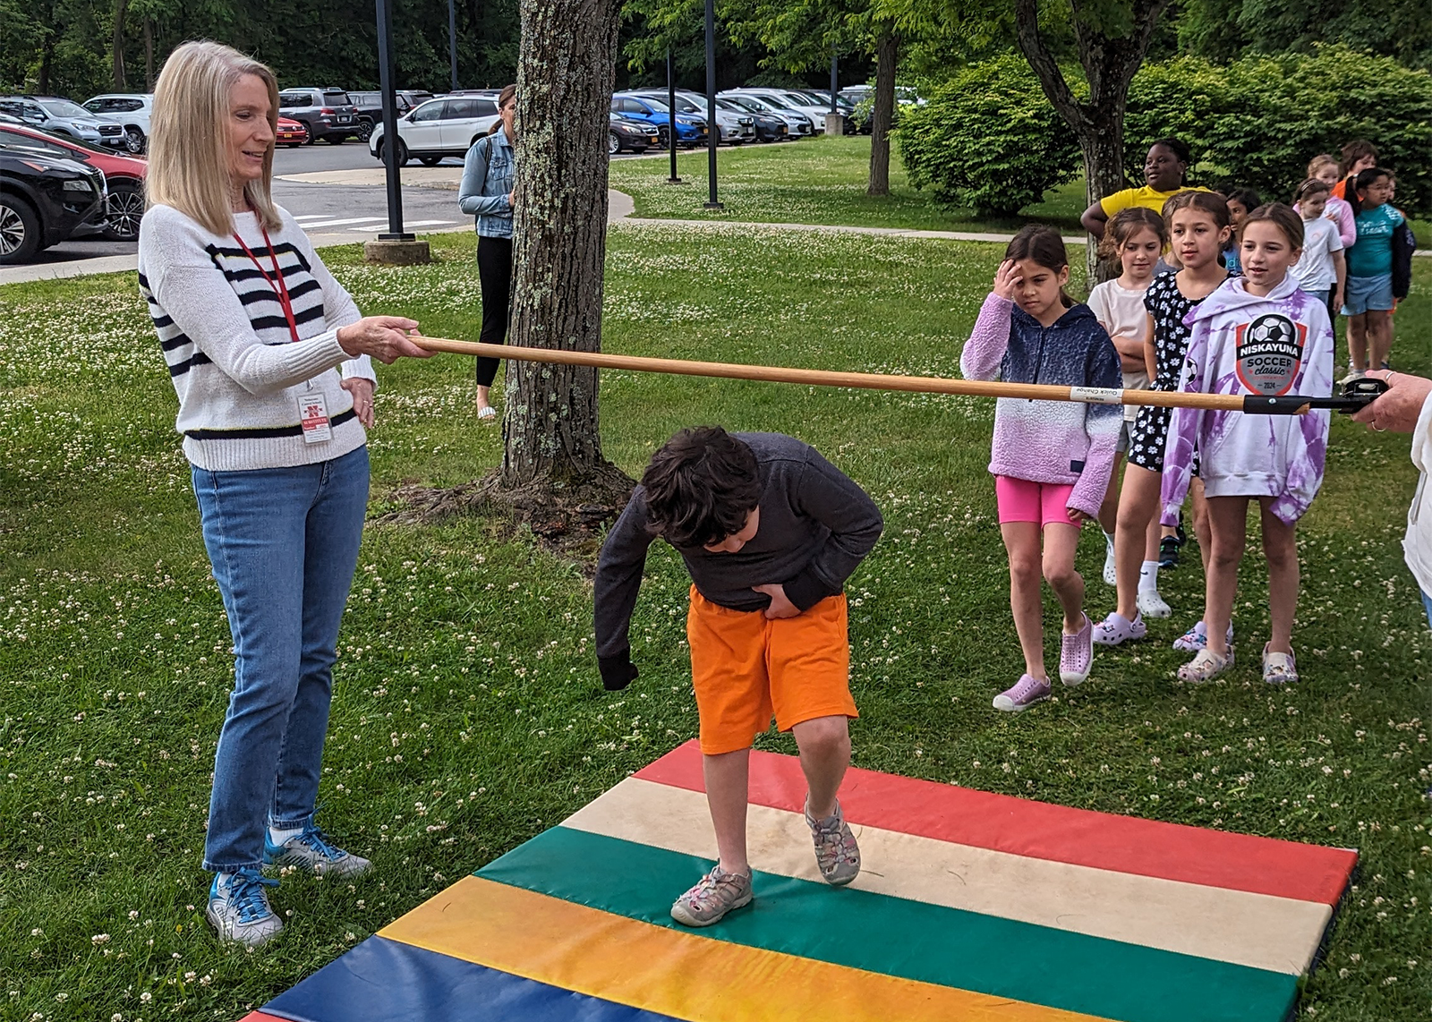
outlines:
[[[760,475],[760,522],[739,553],[712,554],[677,547],[696,590],[720,607],[765,610],[770,597],[753,585],[779,583],[786,598],[809,610],[845,588],[885,527],[863,490],[821,454],[793,437],[742,432]],[[647,531],[646,491],[637,487],[601,547],[596,578],[597,663],[607,687],[632,674],[627,631],[642,570],[653,537]]]

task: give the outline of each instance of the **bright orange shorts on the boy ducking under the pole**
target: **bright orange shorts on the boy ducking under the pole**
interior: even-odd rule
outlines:
[[[762,611],[719,607],[693,585],[686,638],[707,756],[749,749],[772,714],[782,731],[816,717],[859,716],[845,594],[768,621]]]

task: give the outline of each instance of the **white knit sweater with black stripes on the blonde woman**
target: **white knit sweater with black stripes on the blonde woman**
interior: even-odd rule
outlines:
[[[338,458],[367,434],[339,381],[374,379],[367,355],[352,358],[338,328],[361,318],[314,252],[302,228],[279,210],[269,232],[298,323],[295,344],[278,293],[232,236],[209,233],[172,206],[153,206],[139,225],[139,292],[159,332],[189,461],[212,471],[284,468]],[[258,218],[235,213],[233,229],[274,276]],[[341,368],[341,375],[338,369]],[[321,391],[332,438],[304,442],[299,394]]]

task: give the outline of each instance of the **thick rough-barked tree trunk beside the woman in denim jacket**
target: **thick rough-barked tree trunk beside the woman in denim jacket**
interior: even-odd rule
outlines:
[[[511,344],[601,349],[607,110],[619,0],[521,0]],[[500,488],[606,502],[632,481],[601,455],[597,371],[507,364]]]

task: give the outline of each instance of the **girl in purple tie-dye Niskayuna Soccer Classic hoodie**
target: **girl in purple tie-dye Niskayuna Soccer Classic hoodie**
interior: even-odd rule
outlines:
[[[1259,206],[1243,223],[1243,278],[1226,281],[1189,313],[1183,391],[1327,396],[1333,386],[1333,332],[1327,308],[1299,289],[1287,269],[1303,248],[1303,220],[1290,206]],[[1330,412],[1246,415],[1177,408],[1164,455],[1163,521],[1171,524],[1189,488],[1194,451],[1209,500],[1213,551],[1206,577],[1207,647],[1179,670],[1207,681],[1233,663],[1226,641],[1246,544],[1250,500],[1262,505],[1272,638],[1263,680],[1297,680],[1293,614],[1297,610],[1296,524],[1323,482]]]

